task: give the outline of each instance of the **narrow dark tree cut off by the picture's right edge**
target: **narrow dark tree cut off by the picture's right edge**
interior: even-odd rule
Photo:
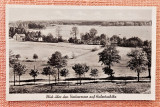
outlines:
[[[143,51],[145,51],[147,54],[148,78],[151,78],[151,45],[143,47]]]

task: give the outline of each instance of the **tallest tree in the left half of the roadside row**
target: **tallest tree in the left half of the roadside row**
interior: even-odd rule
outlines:
[[[52,54],[51,58],[49,58],[48,64],[57,68],[57,70],[58,70],[58,81],[59,81],[60,69],[67,65],[67,59],[62,57],[62,54],[60,52],[56,51],[54,54]]]

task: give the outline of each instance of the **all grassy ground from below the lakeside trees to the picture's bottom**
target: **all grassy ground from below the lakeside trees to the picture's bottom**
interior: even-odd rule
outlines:
[[[20,54],[21,58],[19,58],[20,63],[26,65],[27,71],[24,75],[21,76],[21,85],[13,86],[13,70],[10,68],[9,81],[10,81],[10,93],[65,93],[65,92],[77,92],[77,93],[150,93],[150,82],[143,81],[137,83],[137,78],[132,78],[132,82],[127,81],[128,83],[124,85],[124,83],[115,83],[113,82],[105,82],[105,78],[108,75],[104,74],[102,68],[104,67],[99,63],[98,53],[101,52],[104,48],[101,48],[99,45],[76,45],[71,43],[42,43],[42,42],[17,42],[13,39],[9,40],[11,49],[14,54]],[[97,48],[97,51],[92,52],[93,48]],[[129,58],[126,56],[128,52],[130,52],[133,48],[125,48],[125,47],[117,47],[119,51],[119,55],[121,56],[120,63],[115,63],[112,66],[114,70],[115,77],[123,77],[128,78],[129,76],[137,77],[137,73],[135,71],[130,70],[126,67]],[[66,66],[69,69],[70,78],[77,78],[75,75],[72,66],[76,63],[86,63],[91,68],[98,69],[98,83],[92,83],[90,80],[82,81],[85,83],[81,86],[77,86],[72,84],[68,88],[66,85],[54,86],[50,89],[48,85],[48,77],[41,74],[43,68],[47,66],[48,58],[55,51],[60,51],[63,56],[68,55],[68,64]],[[38,55],[38,59],[36,62],[32,59],[33,54],[36,53]],[[72,59],[72,54],[76,56]],[[28,61],[27,61],[28,60]],[[29,75],[31,69],[36,67],[39,71],[39,75],[37,76],[36,85],[33,85],[33,78]],[[85,78],[90,78],[90,70],[85,74]],[[148,76],[148,72],[145,71],[140,74],[140,77]],[[102,80],[104,78],[104,80]],[[63,77],[60,77],[60,80],[64,80]],[[118,78],[117,78],[118,80]],[[140,78],[140,80],[145,80],[145,78]],[[16,81],[18,81],[18,76],[16,77]],[[27,82],[30,81],[30,82]],[[54,83],[54,78],[51,77],[52,83]],[[93,80],[92,80],[93,81]],[[122,80],[123,82],[124,80]],[[42,83],[43,84],[42,84]],[[73,82],[74,83],[74,82]],[[18,85],[18,82],[16,83]],[[61,90],[60,90],[61,89]]]

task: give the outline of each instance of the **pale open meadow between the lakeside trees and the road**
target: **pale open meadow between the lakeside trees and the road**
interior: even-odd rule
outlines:
[[[59,51],[62,53],[63,56],[68,55],[68,63],[66,68],[69,69],[69,76],[67,78],[76,78],[75,71],[72,69],[72,66],[77,63],[86,63],[91,68],[97,68],[99,70],[97,78],[106,78],[108,75],[104,74],[102,68],[104,65],[99,63],[99,56],[98,53],[101,52],[104,48],[101,48],[100,45],[76,45],[71,43],[42,43],[42,42],[17,42],[13,39],[10,39],[10,49],[14,52],[14,54],[20,54],[21,58],[19,61],[26,65],[27,71],[24,75],[21,76],[21,80],[28,80],[33,79],[29,72],[31,69],[34,68],[41,73],[43,68],[47,66],[48,58],[55,51]],[[92,52],[93,48],[97,48],[97,51]],[[127,47],[117,47],[119,51],[119,55],[121,56],[120,63],[115,63],[112,66],[114,70],[115,77],[127,77],[133,76],[137,77],[137,73],[135,71],[130,70],[127,68],[127,62],[129,58],[126,56],[128,52],[130,52],[134,48],[127,48]],[[33,54],[36,53],[38,55],[38,59],[34,61]],[[74,53],[75,58],[72,59],[72,54]],[[10,68],[12,71],[12,68]],[[90,70],[85,74],[85,77],[90,77]],[[146,77],[148,75],[147,70],[140,74],[140,77]],[[37,79],[48,79],[47,76],[39,74]],[[54,78],[52,78],[54,80]],[[61,77],[63,80],[64,78]],[[10,81],[13,82],[13,72],[10,72]],[[18,81],[18,78],[17,78]]]

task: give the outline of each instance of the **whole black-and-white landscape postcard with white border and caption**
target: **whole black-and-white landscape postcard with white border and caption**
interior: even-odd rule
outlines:
[[[6,98],[155,100],[156,8],[6,6]]]

